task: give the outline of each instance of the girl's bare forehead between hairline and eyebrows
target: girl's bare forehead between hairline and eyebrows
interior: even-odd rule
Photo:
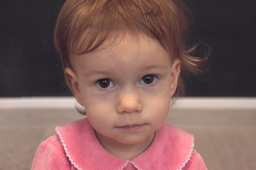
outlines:
[[[168,53],[154,39],[124,36],[117,42],[76,56],[75,71],[85,75],[128,75],[171,66]]]

